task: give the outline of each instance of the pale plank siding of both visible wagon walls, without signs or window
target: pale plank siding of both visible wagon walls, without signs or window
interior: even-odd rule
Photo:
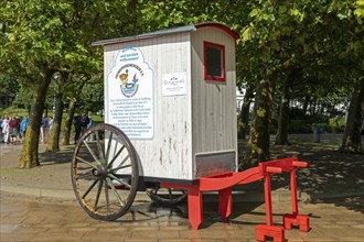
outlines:
[[[203,77],[203,42],[225,46],[226,81]],[[158,35],[104,45],[107,78],[120,50],[138,47],[153,69],[154,135],[130,139],[138,153],[139,174],[147,180],[192,183],[201,176],[235,170],[237,164],[235,40],[218,28]],[[186,94],[163,96],[163,75],[185,73]],[[121,94],[120,94],[121,95]],[[105,122],[109,108],[105,98]],[[113,124],[113,123],[111,123]],[[118,127],[122,130],[122,127]]]

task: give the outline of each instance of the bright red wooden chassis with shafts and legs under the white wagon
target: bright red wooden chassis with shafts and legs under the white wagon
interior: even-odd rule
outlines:
[[[232,215],[232,187],[239,184],[249,184],[264,179],[266,224],[256,227],[256,239],[265,241],[272,237],[274,241],[285,241],[285,229],[291,229],[292,224],[299,226],[301,231],[309,231],[309,217],[299,215],[297,200],[296,169],[307,167],[307,162],[299,162],[297,157],[263,162],[258,167],[244,172],[226,173],[211,177],[200,178],[195,185],[180,185],[161,183],[161,187],[188,190],[189,220],[193,229],[199,229],[203,221],[203,191],[218,191],[218,213],[226,221]],[[283,215],[282,226],[275,226],[271,210],[270,174],[290,173],[292,213]]]

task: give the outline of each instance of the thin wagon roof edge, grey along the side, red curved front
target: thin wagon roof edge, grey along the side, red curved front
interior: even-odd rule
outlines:
[[[221,30],[225,31],[227,34],[229,34],[234,40],[239,38],[239,35],[235,31],[232,31],[228,26],[226,26],[224,24],[221,24],[221,23],[201,23],[201,24],[192,24],[192,25],[186,25],[186,26],[178,26],[178,28],[173,28],[173,29],[139,34],[139,35],[135,35],[135,36],[97,41],[97,42],[93,42],[92,46],[126,43],[126,42],[133,42],[133,41],[152,38],[152,37],[160,37],[160,36],[165,36],[165,35],[171,35],[171,34],[193,32],[193,31],[196,31],[200,28],[206,28],[206,26],[221,29]]]

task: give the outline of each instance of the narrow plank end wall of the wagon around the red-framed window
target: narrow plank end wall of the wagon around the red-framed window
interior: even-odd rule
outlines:
[[[201,28],[192,32],[191,40],[192,147],[193,154],[206,154],[211,163],[203,165],[195,160],[193,169],[196,176],[234,170],[237,164],[235,40],[216,28]],[[204,41],[225,46],[225,81],[204,80]],[[216,160],[211,153],[216,153]]]

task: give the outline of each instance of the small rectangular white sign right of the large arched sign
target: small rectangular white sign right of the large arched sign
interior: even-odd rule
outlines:
[[[164,74],[162,81],[163,96],[185,95],[188,89],[185,73]]]

